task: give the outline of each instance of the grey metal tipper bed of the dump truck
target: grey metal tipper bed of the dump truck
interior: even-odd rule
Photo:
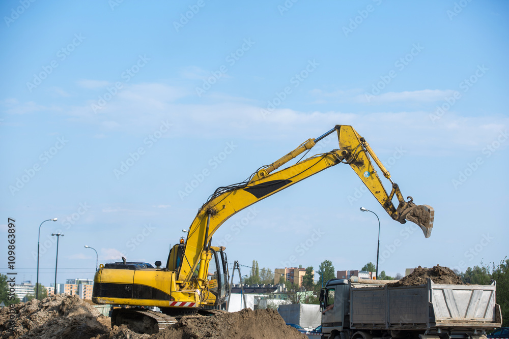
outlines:
[[[501,326],[495,284],[366,287],[351,284],[350,327],[488,329]]]

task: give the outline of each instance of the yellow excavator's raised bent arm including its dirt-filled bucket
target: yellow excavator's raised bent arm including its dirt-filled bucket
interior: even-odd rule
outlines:
[[[279,167],[311,149],[318,141],[334,131],[337,133],[339,149],[318,154],[299,161],[295,165],[278,170]],[[383,175],[390,180],[392,184],[390,193],[385,191],[370,158],[373,159]],[[177,281],[189,282],[193,277],[193,270],[199,262],[202,264],[200,264],[198,276],[205,276],[206,262],[210,260],[207,257],[207,250],[210,248],[212,235],[232,215],[292,186],[296,182],[339,163],[348,164],[352,167],[393,220],[402,224],[409,220],[416,223],[426,237],[431,235],[434,219],[433,208],[428,205],[415,205],[411,197],[408,197],[409,201],[405,201],[398,184],[392,181],[389,172],[364,138],[351,126],[336,125],[319,138],[308,139],[286,156],[271,165],[260,168],[246,181],[218,188],[200,208],[189,227],[184,249],[186,260],[180,266]],[[395,207],[392,203],[394,195],[398,199],[398,207]]]

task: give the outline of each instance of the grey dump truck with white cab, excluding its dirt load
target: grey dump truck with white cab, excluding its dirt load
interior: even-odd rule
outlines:
[[[324,339],[477,339],[502,325],[491,285],[332,279],[320,292]]]

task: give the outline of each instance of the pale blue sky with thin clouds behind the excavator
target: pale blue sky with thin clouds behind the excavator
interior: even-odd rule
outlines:
[[[99,263],[164,262],[217,187],[336,124],[435,208],[432,236],[338,165],[229,219],[213,242],[232,263],[360,269],[378,232],[361,206],[380,218],[388,274],[507,255],[505,2],[26,0],[0,13],[0,233],[6,244],[16,220],[18,281],[35,282],[37,229],[55,217],[41,227],[45,285],[56,231],[59,282],[93,277],[84,245]]]

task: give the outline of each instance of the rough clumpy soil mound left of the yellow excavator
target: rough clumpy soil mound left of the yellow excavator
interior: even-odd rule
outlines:
[[[104,316],[77,295],[58,294],[14,305],[14,326],[9,328],[9,310],[0,310],[2,338],[89,339],[107,333]]]

